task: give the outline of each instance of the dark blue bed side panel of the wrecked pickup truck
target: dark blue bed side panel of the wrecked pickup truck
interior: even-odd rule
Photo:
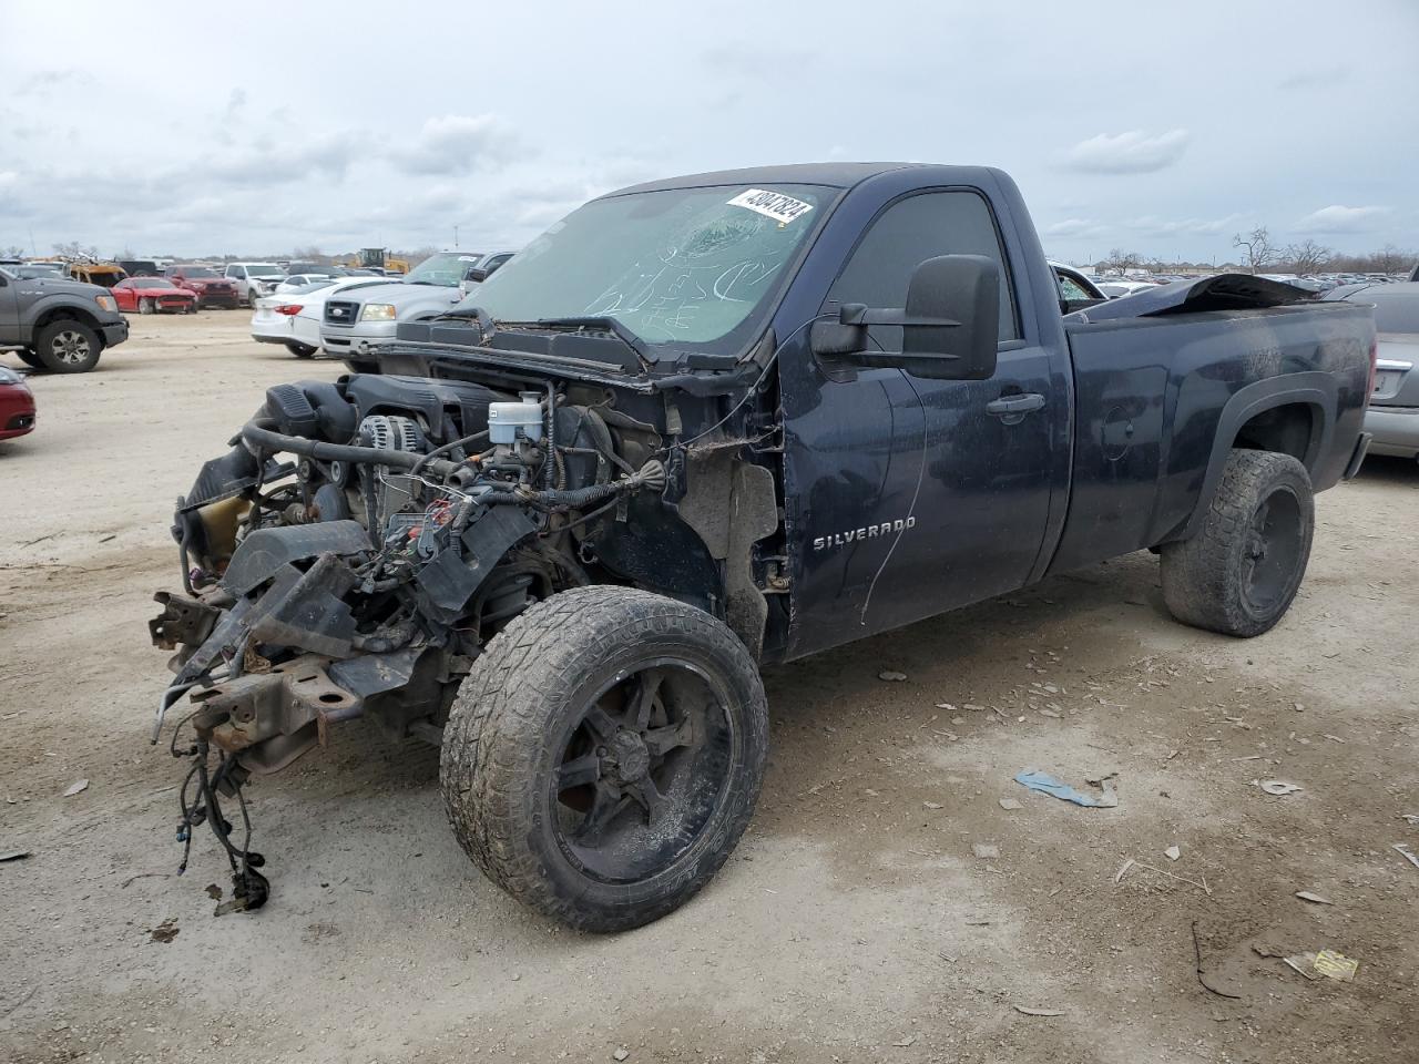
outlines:
[[[1050,572],[1183,538],[1235,441],[1261,434],[1317,491],[1365,411],[1368,308],[1301,304],[1090,321],[1067,315],[1074,451]],[[1338,413],[1337,413],[1338,411]],[[1249,438],[1252,434],[1252,438]]]

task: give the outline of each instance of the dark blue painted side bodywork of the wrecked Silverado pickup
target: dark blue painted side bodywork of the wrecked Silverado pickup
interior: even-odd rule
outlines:
[[[768,643],[783,657],[1183,535],[1242,426],[1236,411],[1263,409],[1242,394],[1256,382],[1273,382],[1266,401],[1313,410],[1303,460],[1317,488],[1344,471],[1364,416],[1374,335],[1364,311],[1311,304],[1066,329],[1029,213],[1003,173],[911,166],[841,180],[851,187],[820,223],[773,319],[789,338],[779,396],[792,604],[786,631]],[[992,204],[1022,339],[1002,345],[985,382],[830,373],[803,323],[878,211],[924,189],[972,189]],[[1334,382],[1324,400],[1315,373]],[[1044,403],[1023,416],[988,413],[1010,394]]]

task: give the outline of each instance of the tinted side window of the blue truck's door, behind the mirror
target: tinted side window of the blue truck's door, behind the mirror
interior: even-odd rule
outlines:
[[[1010,268],[990,207],[973,192],[928,192],[888,206],[853,250],[829,301],[902,308],[918,264],[937,255],[985,255],[1000,268],[1000,339],[1019,339]],[[901,350],[901,329],[873,326],[885,350]]]

